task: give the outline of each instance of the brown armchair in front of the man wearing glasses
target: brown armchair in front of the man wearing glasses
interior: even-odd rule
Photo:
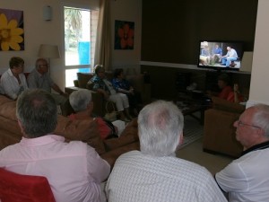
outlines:
[[[239,119],[245,106],[217,97],[212,100],[213,108],[204,111],[204,151],[239,157],[243,146],[236,140],[233,123]]]

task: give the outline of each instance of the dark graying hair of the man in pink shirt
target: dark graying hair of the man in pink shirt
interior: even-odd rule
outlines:
[[[56,101],[49,92],[26,90],[18,98],[16,115],[27,137],[46,136],[57,125]]]

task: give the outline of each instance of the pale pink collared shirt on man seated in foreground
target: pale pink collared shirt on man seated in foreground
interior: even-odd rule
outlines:
[[[65,143],[63,136],[24,138],[0,151],[0,167],[20,174],[45,176],[57,202],[100,201],[100,182],[110,166],[89,145]]]

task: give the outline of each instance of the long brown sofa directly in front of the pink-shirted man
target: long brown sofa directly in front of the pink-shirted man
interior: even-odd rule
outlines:
[[[16,119],[16,101],[0,95],[0,150],[7,145],[18,143],[22,132]],[[108,161],[111,167],[120,154],[131,150],[139,150],[137,135],[137,119],[128,123],[121,136],[102,140],[96,121],[70,120],[58,115],[54,134],[65,136],[65,141],[79,140],[91,145],[100,156]]]

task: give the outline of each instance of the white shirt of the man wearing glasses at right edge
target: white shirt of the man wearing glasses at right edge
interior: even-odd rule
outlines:
[[[221,189],[229,192],[230,202],[269,201],[268,156],[269,148],[252,151],[216,174]]]

